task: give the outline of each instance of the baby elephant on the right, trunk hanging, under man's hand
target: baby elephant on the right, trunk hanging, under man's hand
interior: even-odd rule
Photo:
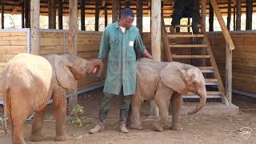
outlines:
[[[159,108],[160,122],[154,123],[158,131],[167,126],[168,107],[172,106],[172,130],[180,130],[179,115],[182,94],[198,94],[198,106],[189,112],[195,114],[205,106],[206,86],[202,72],[194,66],[180,62],[157,62],[142,58],[137,62],[137,89],[132,97],[130,118],[133,129],[142,129],[139,110],[144,100],[154,100]]]

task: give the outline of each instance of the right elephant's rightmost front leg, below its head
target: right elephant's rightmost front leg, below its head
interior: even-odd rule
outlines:
[[[179,117],[182,109],[182,96],[175,93],[171,98],[172,105],[172,126],[171,130],[182,130],[179,126]]]

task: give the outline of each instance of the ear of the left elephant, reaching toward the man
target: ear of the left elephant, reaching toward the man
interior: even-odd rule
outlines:
[[[71,58],[66,55],[58,56],[54,59],[54,66],[58,83],[66,89],[76,89],[78,82],[71,71]]]

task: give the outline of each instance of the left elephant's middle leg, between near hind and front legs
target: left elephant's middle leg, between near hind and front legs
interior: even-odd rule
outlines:
[[[38,142],[42,140],[42,123],[45,117],[46,108],[35,113],[34,122],[31,129],[30,141]]]

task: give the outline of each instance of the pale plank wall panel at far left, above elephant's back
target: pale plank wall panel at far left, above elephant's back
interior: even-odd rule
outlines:
[[[1,31],[0,30],[0,71],[14,58],[16,54],[26,53],[27,51],[27,35],[26,31]]]

